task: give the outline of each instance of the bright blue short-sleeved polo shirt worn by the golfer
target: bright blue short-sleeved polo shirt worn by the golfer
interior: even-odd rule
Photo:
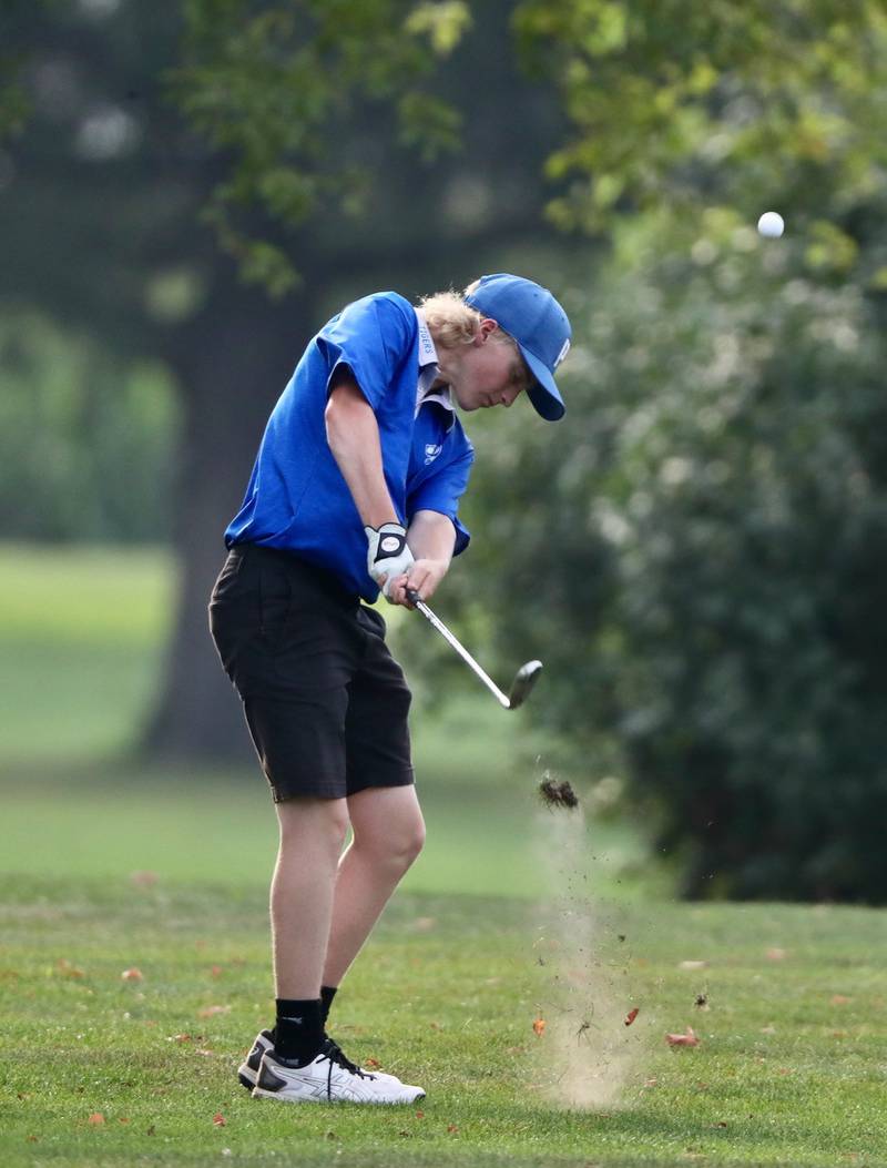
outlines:
[[[421,341],[421,343],[420,343]],[[431,398],[417,409],[422,370],[434,347],[415,310],[396,292],[348,305],[310,341],[272,410],[243,506],[226,545],[281,548],[334,572],[372,603],[378,585],[366,571],[366,536],[348,484],[329,449],[323,413],[337,366],[350,366],[379,427],[382,465],[400,522],[419,510],[453,521],[455,554],[468,545],[459,499],[474,459],[452,409]]]

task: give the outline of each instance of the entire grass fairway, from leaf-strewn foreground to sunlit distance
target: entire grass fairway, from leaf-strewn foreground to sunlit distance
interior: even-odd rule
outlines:
[[[251,1099],[261,780],[113,762],[169,564],[8,549],[0,579],[0,1168],[887,1164],[887,916],[672,903],[627,826],[539,811],[483,703],[417,736],[428,848],[333,1015],[427,1099]]]

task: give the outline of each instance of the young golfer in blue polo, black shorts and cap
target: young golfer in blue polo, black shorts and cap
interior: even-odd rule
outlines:
[[[570,336],[554,297],[517,276],[484,276],[418,308],[380,292],[323,326],[271,413],[210,600],[280,826],[277,1018],[239,1068],[253,1096],[425,1094],[355,1065],[326,1034],[345,972],[425,836],[410,690],[382,616],[362,602],[434,595],[469,538],[458,506],[474,454],[456,410],[523,395],[557,420],[553,374]]]

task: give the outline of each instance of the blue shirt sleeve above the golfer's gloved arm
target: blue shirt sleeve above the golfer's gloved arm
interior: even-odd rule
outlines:
[[[327,360],[329,382],[340,366],[349,366],[361,392],[378,411],[392,385],[398,367],[412,352],[415,340],[405,314],[385,296],[364,297],[349,304],[317,334]]]

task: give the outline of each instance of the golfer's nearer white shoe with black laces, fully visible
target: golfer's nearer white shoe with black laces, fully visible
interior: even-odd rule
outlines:
[[[287,1066],[266,1050],[252,1093],[257,1099],[282,1103],[412,1104],[425,1098],[421,1087],[362,1071],[333,1042],[306,1066]]]

